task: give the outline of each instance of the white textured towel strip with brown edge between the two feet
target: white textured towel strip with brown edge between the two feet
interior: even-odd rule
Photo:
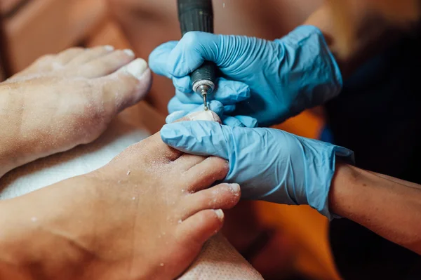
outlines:
[[[4,175],[0,179],[0,199],[11,199],[94,171],[107,164],[126,147],[149,135],[145,129],[129,126],[117,119],[104,135],[90,145],[39,159]]]

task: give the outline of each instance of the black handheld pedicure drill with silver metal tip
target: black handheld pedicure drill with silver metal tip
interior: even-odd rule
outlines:
[[[212,0],[178,0],[177,5],[182,36],[190,31],[213,33]],[[193,91],[203,97],[204,109],[208,110],[208,94],[215,89],[215,63],[205,61],[190,77]]]

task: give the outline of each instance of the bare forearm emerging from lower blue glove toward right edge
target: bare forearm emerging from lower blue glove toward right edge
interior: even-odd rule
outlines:
[[[421,254],[421,186],[337,164],[330,211]]]

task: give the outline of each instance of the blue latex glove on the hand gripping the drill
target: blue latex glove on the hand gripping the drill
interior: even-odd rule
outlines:
[[[236,104],[230,116],[251,116],[260,126],[321,105],[342,87],[338,65],[321,31],[313,26],[298,27],[275,41],[189,32],[178,44],[172,41],[156,48],[149,56],[149,66],[173,79],[178,105],[200,105],[203,101],[192,93],[188,74],[204,60],[215,62],[225,78],[210,98],[222,105]],[[227,81],[241,84],[226,86]],[[243,100],[246,85],[250,98]],[[171,113],[188,111],[182,108],[173,103],[168,106]]]

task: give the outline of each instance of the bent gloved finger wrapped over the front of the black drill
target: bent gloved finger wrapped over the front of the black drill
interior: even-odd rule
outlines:
[[[218,65],[220,35],[206,32],[188,32],[173,48],[168,58],[168,72],[173,76],[187,76],[205,60]]]

